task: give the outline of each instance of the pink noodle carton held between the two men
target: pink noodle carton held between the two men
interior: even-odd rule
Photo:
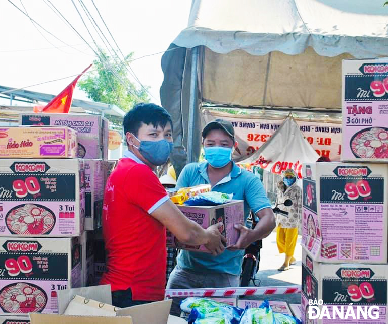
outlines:
[[[233,200],[230,203],[217,206],[177,205],[177,207],[187,218],[200,224],[205,229],[222,222],[224,226],[220,228],[220,231],[226,238],[226,246],[237,242],[239,231],[234,228],[234,224],[244,222],[244,204],[242,200]],[[204,245],[190,246],[180,243],[170,231],[167,231],[167,246],[209,253]]]

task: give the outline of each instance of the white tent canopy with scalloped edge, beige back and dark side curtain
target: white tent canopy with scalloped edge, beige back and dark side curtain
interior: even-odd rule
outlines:
[[[177,173],[187,139],[192,48],[198,95],[228,106],[341,109],[341,61],[388,56],[388,8],[365,0],[193,0],[162,57],[161,103],[173,117]],[[193,123],[200,134],[199,109]]]

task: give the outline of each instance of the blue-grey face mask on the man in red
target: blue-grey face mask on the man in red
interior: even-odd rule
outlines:
[[[157,142],[140,141],[136,136],[134,137],[137,141],[140,142],[140,146],[133,146],[139,150],[144,159],[146,159],[152,165],[163,165],[167,162],[173,149],[172,142],[166,140]]]

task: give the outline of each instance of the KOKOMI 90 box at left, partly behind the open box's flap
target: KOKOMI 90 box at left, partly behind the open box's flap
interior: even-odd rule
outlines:
[[[81,286],[80,237],[0,238],[0,313],[58,313],[57,292]]]

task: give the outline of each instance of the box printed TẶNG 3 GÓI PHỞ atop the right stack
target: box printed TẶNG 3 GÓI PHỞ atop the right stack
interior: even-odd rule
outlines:
[[[388,59],[342,61],[342,161],[388,162]]]

